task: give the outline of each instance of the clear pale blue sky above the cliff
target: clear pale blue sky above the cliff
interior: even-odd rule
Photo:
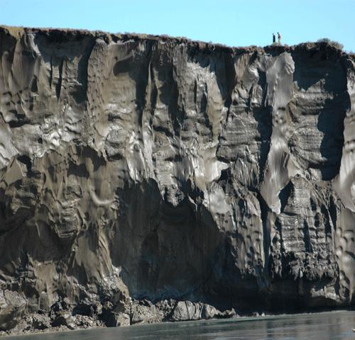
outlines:
[[[355,52],[355,0],[0,0],[0,25],[84,28],[265,46],[320,38]]]

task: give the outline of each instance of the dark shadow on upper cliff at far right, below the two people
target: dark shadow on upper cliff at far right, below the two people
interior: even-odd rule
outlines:
[[[300,90],[306,93],[310,91],[310,94],[322,91],[332,96],[322,102],[316,102],[315,112],[307,113],[318,115],[316,128],[323,135],[320,143],[320,154],[323,159],[311,163],[310,166],[319,169],[322,179],[329,181],[339,173],[344,145],[344,118],[351,105],[346,92],[346,71],[339,54],[334,51],[332,53],[327,50],[307,51],[302,55],[293,54],[293,58],[295,61],[293,80],[297,81]]]

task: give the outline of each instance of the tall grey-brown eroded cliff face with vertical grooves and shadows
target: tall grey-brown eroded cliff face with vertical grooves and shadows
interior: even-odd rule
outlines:
[[[354,305],[354,59],[7,28],[0,56],[1,329]]]

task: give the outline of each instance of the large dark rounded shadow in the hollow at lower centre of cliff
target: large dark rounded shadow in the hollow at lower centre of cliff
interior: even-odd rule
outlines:
[[[172,205],[153,180],[126,183],[119,193],[126,208],[114,227],[111,259],[133,297],[204,300],[222,233],[207,209],[187,198],[198,201],[203,193],[187,188],[185,195]]]

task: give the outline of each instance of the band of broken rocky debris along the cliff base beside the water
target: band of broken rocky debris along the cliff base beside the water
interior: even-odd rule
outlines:
[[[239,317],[236,311],[218,310],[212,305],[202,302],[161,300],[153,304],[148,300],[134,301],[124,307],[124,311],[117,310],[113,305],[104,307],[102,314],[78,314],[78,310],[58,310],[58,305],[49,314],[31,313],[17,319],[12,328],[4,334],[21,334],[23,332],[63,331],[65,329],[90,329],[95,327],[122,327],[131,324],[152,324],[164,321],[181,322],[199,319],[221,319]],[[96,304],[95,304],[96,305]],[[92,306],[94,309],[94,305]],[[121,307],[119,308],[121,309]],[[53,312],[57,310],[57,312]]]

